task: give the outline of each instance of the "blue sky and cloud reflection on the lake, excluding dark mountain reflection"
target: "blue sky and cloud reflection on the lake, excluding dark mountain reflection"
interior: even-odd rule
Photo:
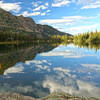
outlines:
[[[0,83],[0,91],[11,90],[36,97],[43,97],[55,91],[100,97],[100,64],[93,64],[96,55],[87,51],[81,53],[81,50],[79,52],[75,47],[73,50],[70,48],[65,47],[63,50],[58,47],[39,54],[35,60],[18,63],[7,69],[3,77],[6,84]],[[55,56],[58,58],[54,61],[52,58]],[[92,61],[86,62],[90,58]]]

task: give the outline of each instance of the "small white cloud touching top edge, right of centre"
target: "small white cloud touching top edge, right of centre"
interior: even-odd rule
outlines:
[[[52,7],[61,7],[70,4],[69,0],[53,0]]]

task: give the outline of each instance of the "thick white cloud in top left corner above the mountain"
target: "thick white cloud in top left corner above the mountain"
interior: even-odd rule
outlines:
[[[18,3],[4,3],[3,1],[0,1],[0,8],[6,10],[6,11],[13,11],[13,12],[19,12],[21,10],[20,2]]]

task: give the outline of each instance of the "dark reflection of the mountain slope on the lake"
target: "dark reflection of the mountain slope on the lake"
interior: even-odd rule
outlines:
[[[0,74],[17,62],[33,59],[38,53],[47,52],[53,48],[54,46],[47,43],[0,45]]]

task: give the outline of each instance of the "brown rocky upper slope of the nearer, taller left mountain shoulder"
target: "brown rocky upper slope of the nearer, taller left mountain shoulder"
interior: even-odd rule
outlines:
[[[0,26],[14,27],[16,29],[33,32],[36,29],[36,23],[31,19],[23,16],[14,16],[0,8]]]

